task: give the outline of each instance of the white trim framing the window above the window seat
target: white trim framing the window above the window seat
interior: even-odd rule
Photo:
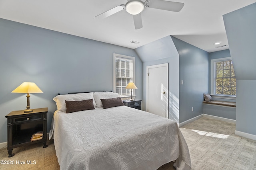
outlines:
[[[214,96],[215,98],[223,98],[223,99],[236,99],[236,96],[233,95],[224,95],[224,94],[214,94],[214,89],[215,89],[215,62],[219,61],[228,61],[232,60],[231,57],[225,57],[225,58],[219,58],[219,59],[212,59],[211,60],[211,96]]]

